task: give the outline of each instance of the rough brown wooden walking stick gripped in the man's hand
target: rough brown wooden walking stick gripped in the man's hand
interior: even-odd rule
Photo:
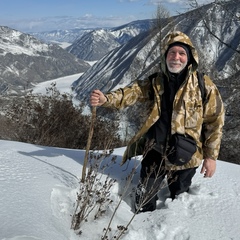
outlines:
[[[89,154],[89,150],[90,150],[90,147],[91,147],[91,141],[92,141],[92,136],[93,136],[95,120],[96,120],[96,107],[92,107],[92,117],[91,117],[91,123],[90,123],[90,128],[89,128],[89,133],[88,133],[88,140],[87,140],[87,146],[86,146],[84,162],[83,162],[83,168],[82,168],[82,180],[81,180],[82,183],[85,182],[85,178],[86,178],[88,154]]]

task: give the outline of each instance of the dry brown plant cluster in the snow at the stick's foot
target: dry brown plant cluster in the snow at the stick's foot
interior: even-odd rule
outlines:
[[[102,179],[104,170],[110,164],[115,163],[115,158],[112,157],[110,164],[102,164],[103,160],[108,158],[111,153],[111,151],[109,153],[104,151],[102,154],[90,154],[87,175],[84,183],[80,182],[75,211],[72,216],[71,228],[74,230],[79,230],[81,224],[87,222],[89,217],[98,219],[105,213],[109,204],[112,203],[110,189],[114,185],[115,180],[109,176]]]

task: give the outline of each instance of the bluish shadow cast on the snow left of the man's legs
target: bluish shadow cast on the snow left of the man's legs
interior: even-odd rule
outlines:
[[[42,163],[48,164],[51,167],[54,167],[65,174],[68,174],[70,177],[73,177],[79,180],[79,177],[74,175],[72,172],[65,170],[63,167],[58,166],[56,162],[51,163],[46,160],[46,158],[61,158],[65,156],[70,158],[80,165],[83,165],[85,150],[75,150],[75,149],[64,149],[64,148],[53,148],[47,146],[37,146],[40,149],[32,152],[23,152],[19,151],[20,154],[31,157],[37,161],[41,161]],[[117,150],[117,152],[119,152]],[[99,153],[96,153],[96,155]],[[117,182],[117,191],[118,195],[123,197],[123,201],[125,201],[131,208],[134,210],[134,196],[135,196],[135,188],[139,182],[140,177],[140,167],[141,167],[141,156],[137,156],[127,161],[124,165],[121,165],[122,155],[120,153],[114,154],[114,152],[106,157],[101,159],[100,169],[102,172],[100,174],[109,176],[112,179],[115,179]],[[158,193],[158,207],[161,208],[167,198],[168,190],[161,189]]]

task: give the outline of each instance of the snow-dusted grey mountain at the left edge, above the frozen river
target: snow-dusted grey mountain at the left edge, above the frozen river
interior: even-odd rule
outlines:
[[[89,64],[56,44],[0,27],[0,93],[29,88],[32,83],[84,72]]]

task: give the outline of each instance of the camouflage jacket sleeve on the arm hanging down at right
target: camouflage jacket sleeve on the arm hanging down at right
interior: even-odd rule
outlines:
[[[216,160],[220,151],[224,126],[224,105],[215,84],[209,78],[205,81],[207,102],[204,104],[203,114],[203,158]]]

